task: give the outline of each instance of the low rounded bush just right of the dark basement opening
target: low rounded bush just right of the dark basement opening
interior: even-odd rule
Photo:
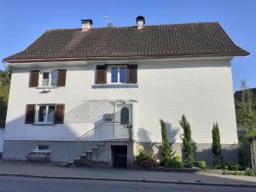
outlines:
[[[157,161],[154,153],[146,149],[140,149],[138,151],[138,155],[135,157],[134,163],[137,166],[143,167],[157,166]]]

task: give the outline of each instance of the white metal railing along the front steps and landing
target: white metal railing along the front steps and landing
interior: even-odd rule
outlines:
[[[123,125],[120,122],[103,122],[76,139],[76,141],[112,140],[131,140],[131,124]]]

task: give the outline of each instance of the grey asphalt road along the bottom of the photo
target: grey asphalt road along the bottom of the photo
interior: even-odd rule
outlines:
[[[133,183],[33,177],[0,177],[0,192],[256,192],[256,188]]]

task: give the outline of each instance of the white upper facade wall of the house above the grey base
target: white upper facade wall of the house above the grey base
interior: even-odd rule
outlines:
[[[29,88],[29,68],[15,68],[7,115],[5,139],[73,141],[89,131],[111,108],[96,104],[84,112],[88,100],[137,100],[134,137],[139,142],[160,142],[159,119],[168,122],[170,138],[180,142],[182,114],[189,119],[192,140],[212,143],[212,124],[218,121],[221,142],[237,143],[236,115],[230,60],[139,61],[138,88],[92,88],[96,64],[67,68],[66,87],[47,94]],[[60,64],[59,64],[60,65]],[[29,103],[65,103],[64,125],[26,125]],[[83,107],[85,106],[85,107]],[[85,110],[86,111],[86,110]]]

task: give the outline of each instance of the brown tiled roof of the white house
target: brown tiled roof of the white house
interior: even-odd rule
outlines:
[[[249,55],[218,22],[49,30],[8,62]]]

